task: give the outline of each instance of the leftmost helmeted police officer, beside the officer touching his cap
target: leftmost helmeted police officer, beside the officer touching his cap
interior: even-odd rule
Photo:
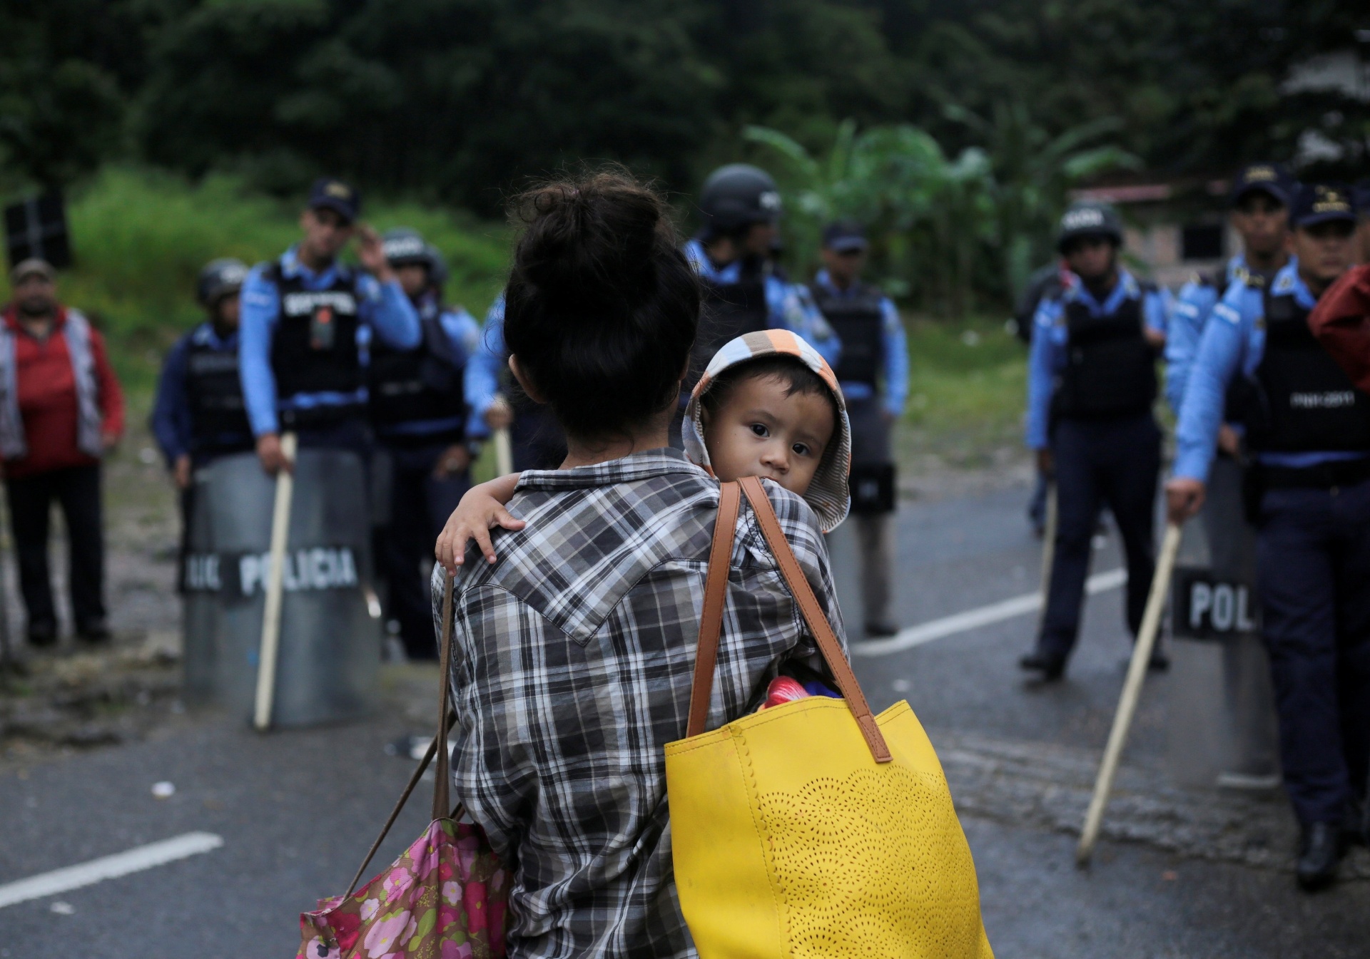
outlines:
[[[240,260],[214,260],[200,271],[196,300],[208,316],[175,342],[158,380],[151,425],[181,492],[182,558],[195,506],[193,472],[255,446],[238,379],[238,291],[247,275]]]

